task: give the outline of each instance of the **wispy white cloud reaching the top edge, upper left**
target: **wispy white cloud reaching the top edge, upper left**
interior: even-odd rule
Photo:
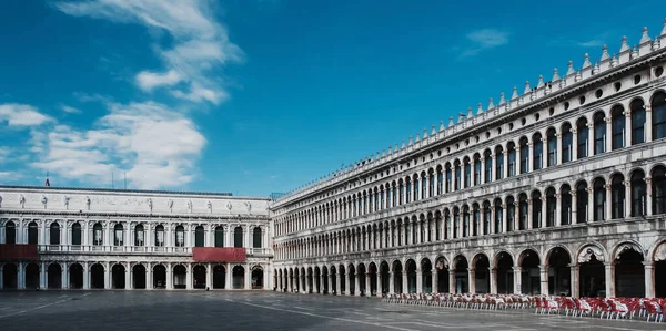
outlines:
[[[137,84],[143,91],[169,87],[176,97],[218,104],[228,97],[219,74],[210,71],[228,62],[243,61],[243,52],[229,41],[226,30],[210,14],[209,1],[89,0],[59,2],[62,12],[165,30],[173,37],[169,49],[155,46],[165,73],[141,71]],[[184,82],[185,87],[175,85]]]

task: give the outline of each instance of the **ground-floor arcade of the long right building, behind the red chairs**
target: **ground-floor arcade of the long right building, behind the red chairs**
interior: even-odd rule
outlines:
[[[415,255],[376,261],[276,266],[282,291],[382,293],[527,293],[573,297],[666,297],[666,240],[612,247],[587,242],[536,248]]]

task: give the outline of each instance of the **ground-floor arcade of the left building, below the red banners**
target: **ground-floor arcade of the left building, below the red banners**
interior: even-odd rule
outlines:
[[[266,266],[196,262],[0,262],[0,289],[263,289]]]

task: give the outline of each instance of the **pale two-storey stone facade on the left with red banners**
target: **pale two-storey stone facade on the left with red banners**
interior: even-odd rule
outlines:
[[[271,289],[268,204],[0,186],[0,289]]]

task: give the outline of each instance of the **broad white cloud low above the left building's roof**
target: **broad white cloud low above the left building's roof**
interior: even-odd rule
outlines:
[[[130,185],[142,189],[192,180],[205,138],[189,118],[153,102],[111,104],[109,111],[93,130],[33,131],[31,166],[97,185],[108,183],[111,172],[124,172]]]

